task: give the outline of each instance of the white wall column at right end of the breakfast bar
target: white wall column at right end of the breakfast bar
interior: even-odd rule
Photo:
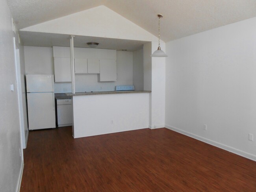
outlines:
[[[165,127],[165,57],[150,57],[158,42],[143,46],[144,90],[151,90],[149,96],[149,122],[151,129]],[[165,51],[165,43],[161,42]]]

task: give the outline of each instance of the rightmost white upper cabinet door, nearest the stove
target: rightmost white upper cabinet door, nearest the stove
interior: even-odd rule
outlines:
[[[117,61],[115,59],[100,59],[99,81],[117,80]]]

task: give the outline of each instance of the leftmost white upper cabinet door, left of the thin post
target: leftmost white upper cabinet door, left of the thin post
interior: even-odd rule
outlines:
[[[55,82],[71,82],[71,65],[68,57],[54,57]]]

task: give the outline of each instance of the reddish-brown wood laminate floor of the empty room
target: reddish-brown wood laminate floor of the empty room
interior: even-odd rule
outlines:
[[[256,162],[169,129],[30,131],[21,192],[256,192]]]

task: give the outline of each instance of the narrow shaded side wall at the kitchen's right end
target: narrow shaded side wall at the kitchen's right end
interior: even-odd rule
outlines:
[[[143,90],[143,49],[133,52],[133,82],[135,90]]]

